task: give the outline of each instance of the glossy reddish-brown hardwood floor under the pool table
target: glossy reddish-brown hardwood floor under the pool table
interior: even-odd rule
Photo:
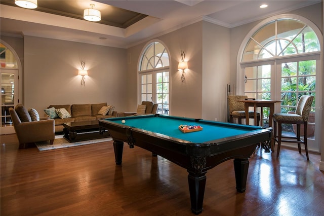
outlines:
[[[124,145],[114,162],[112,141],[39,152],[18,150],[1,135],[1,215],[194,215],[187,171]],[[207,172],[201,215],[323,215],[320,156],[282,147],[250,158],[245,193],[235,190],[233,161]]]

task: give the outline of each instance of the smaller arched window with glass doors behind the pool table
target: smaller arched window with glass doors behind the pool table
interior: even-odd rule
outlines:
[[[166,47],[160,42],[150,42],[139,61],[140,100],[158,104],[157,113],[169,114],[170,61]]]

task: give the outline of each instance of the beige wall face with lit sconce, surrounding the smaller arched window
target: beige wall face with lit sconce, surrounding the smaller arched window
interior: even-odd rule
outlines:
[[[202,116],[202,25],[203,22],[194,23],[179,30],[165,34],[156,39],[169,50],[171,57],[171,109],[173,116],[201,118]],[[128,49],[132,56],[128,66],[128,108],[136,109],[137,97],[137,65],[142,49],[149,43],[139,44]],[[181,50],[185,52],[189,69],[185,70],[185,81],[181,82],[181,71],[177,70],[181,60]]]

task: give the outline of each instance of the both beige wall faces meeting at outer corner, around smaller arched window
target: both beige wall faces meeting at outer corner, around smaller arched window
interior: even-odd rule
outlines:
[[[165,44],[171,57],[171,109],[170,115],[226,121],[229,82],[229,29],[201,21],[157,37]],[[147,42],[149,43],[149,42]],[[136,109],[138,58],[147,45],[142,43],[128,49],[132,56],[128,67],[129,109]],[[177,70],[183,50],[189,69],[181,82]],[[135,56],[135,57],[134,57]]]

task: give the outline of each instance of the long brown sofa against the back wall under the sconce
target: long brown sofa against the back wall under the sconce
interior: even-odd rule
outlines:
[[[63,123],[66,122],[95,121],[117,117],[117,112],[114,111],[114,106],[111,106],[106,115],[99,115],[98,112],[103,106],[107,106],[107,103],[49,105],[48,109],[51,107],[55,107],[55,109],[65,108],[65,110],[71,115],[70,118],[54,118],[55,132],[61,132],[63,131]]]

